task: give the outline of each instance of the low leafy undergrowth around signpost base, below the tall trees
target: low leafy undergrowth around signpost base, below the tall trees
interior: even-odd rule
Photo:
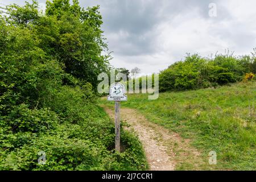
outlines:
[[[0,131],[0,169],[5,170],[125,170],[146,169],[141,143],[122,131],[123,152],[114,152],[114,125],[102,110],[89,108],[84,121],[57,123],[53,130]],[[84,110],[86,111],[86,110]],[[3,122],[1,122],[3,125]],[[3,131],[5,130],[5,131]],[[46,152],[46,164],[38,164],[38,152]]]

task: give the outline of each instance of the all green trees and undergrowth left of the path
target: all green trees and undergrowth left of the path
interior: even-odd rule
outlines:
[[[99,7],[37,7],[0,16],[0,170],[147,169],[134,134],[122,131],[114,152],[114,124],[96,103],[97,75],[109,69]]]

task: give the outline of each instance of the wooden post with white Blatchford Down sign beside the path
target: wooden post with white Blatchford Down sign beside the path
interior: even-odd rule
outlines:
[[[108,101],[115,101],[115,150],[121,152],[120,101],[127,101],[125,86],[120,83],[110,85]]]

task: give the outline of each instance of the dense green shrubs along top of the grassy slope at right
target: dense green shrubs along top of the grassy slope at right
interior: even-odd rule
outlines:
[[[160,72],[159,89],[187,90],[208,88],[241,81],[245,73],[255,73],[255,56],[216,55],[208,59],[187,55]]]

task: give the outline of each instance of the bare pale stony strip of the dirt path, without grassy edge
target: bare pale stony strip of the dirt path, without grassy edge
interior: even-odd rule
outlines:
[[[114,118],[114,111],[108,107],[104,107],[106,113]],[[126,121],[131,127],[126,129],[134,129],[141,140],[150,170],[152,171],[172,171],[175,167],[174,154],[167,151],[168,148],[164,145],[164,141],[171,137],[168,135],[168,130],[150,123],[142,115],[138,114],[134,109],[121,109],[121,119]]]

